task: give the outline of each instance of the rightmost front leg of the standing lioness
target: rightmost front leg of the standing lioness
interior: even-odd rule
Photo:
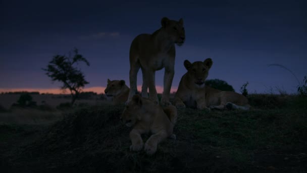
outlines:
[[[164,71],[164,81],[163,81],[163,94],[161,98],[161,105],[162,106],[168,106],[170,105],[170,92],[171,92],[171,87],[172,87],[172,82],[174,78],[174,64],[175,62],[173,61],[175,59],[172,58],[172,61],[170,61],[170,65],[165,67]]]

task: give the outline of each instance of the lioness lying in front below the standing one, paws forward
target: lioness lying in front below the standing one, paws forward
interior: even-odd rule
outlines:
[[[177,121],[177,109],[173,105],[162,108],[147,98],[134,95],[120,119],[128,127],[134,127],[129,135],[132,142],[131,151],[140,151],[144,145],[145,152],[151,155],[156,153],[157,145],[164,139],[176,139],[173,128]],[[152,135],[143,144],[141,134],[149,132]]]

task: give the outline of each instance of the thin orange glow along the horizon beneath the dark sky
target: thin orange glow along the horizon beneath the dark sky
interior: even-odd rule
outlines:
[[[142,86],[138,85],[137,90],[140,92]],[[82,91],[83,92],[94,92],[97,94],[105,94],[105,89],[106,87],[101,87],[101,86],[94,86],[94,87],[89,87],[89,88],[84,88]],[[157,92],[162,93],[163,92],[163,86],[156,86]],[[70,94],[68,90],[63,91],[59,88],[51,88],[51,89],[40,89],[40,88],[0,88],[0,93],[4,92],[39,92],[40,94]],[[171,88],[171,93],[176,92],[177,87],[172,87]]]

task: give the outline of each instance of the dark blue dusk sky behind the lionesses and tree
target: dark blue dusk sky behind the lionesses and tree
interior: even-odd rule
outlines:
[[[41,68],[56,54],[78,48],[86,88],[107,79],[129,86],[129,48],[140,33],[161,27],[161,19],[183,18],[186,40],[176,46],[177,89],[183,61],[211,57],[208,79],[246,81],[249,93],[282,89],[296,93],[307,75],[307,1],[0,1],[0,91],[58,89]],[[156,72],[163,86],[164,69]],[[141,85],[141,71],[138,73]],[[102,89],[101,89],[102,90]],[[103,91],[101,91],[103,92]]]

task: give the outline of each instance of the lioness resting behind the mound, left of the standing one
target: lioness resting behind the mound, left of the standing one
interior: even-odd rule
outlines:
[[[125,103],[129,95],[129,87],[126,85],[125,80],[110,80],[108,79],[105,94],[108,97],[113,97],[113,104]]]

